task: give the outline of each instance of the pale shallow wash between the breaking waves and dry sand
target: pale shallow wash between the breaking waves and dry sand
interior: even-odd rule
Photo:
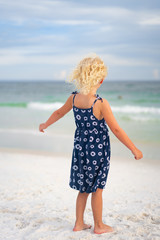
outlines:
[[[52,131],[42,134],[40,132],[1,132],[0,149],[3,151],[22,151],[37,154],[47,154],[56,156],[72,156],[74,144],[74,132],[64,134],[57,132],[57,126],[53,126]],[[36,134],[35,134],[36,133]],[[129,136],[130,137],[130,136]],[[160,142],[145,142],[134,140],[130,137],[135,146],[143,153],[143,159],[140,161],[160,163]],[[114,134],[110,132],[111,158],[132,158],[133,154]]]

